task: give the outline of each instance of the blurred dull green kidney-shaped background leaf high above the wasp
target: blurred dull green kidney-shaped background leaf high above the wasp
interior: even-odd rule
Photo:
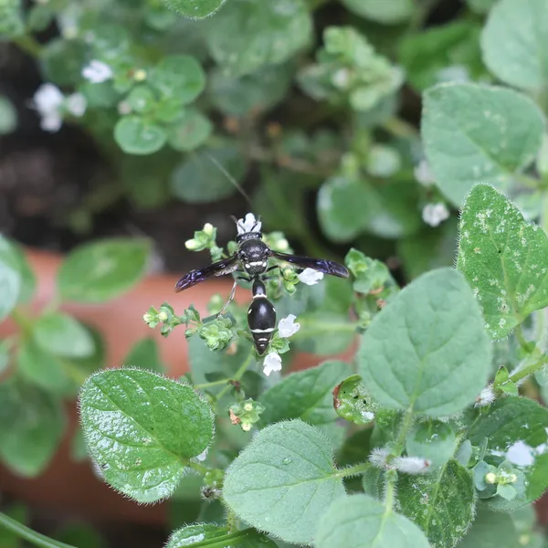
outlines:
[[[241,78],[228,76],[220,68],[211,73],[209,95],[216,108],[230,116],[268,111],[284,99],[291,82],[286,65],[267,65]]]

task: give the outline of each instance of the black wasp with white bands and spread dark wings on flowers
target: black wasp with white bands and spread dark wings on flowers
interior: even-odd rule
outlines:
[[[255,220],[255,216],[248,214],[245,220],[232,218],[237,225],[236,253],[204,269],[192,270],[188,274],[185,274],[175,284],[175,291],[186,290],[213,276],[224,276],[225,274],[237,272],[239,275],[234,280],[230,296],[222,310],[218,312],[218,314],[221,314],[234,299],[238,279],[250,281],[252,283],[253,301],[249,305],[248,325],[257,352],[259,355],[262,355],[269,347],[272,333],[276,328],[276,309],[267,297],[267,289],[264,282],[269,279],[268,273],[274,269],[280,269],[280,266],[269,266],[269,258],[288,262],[299,269],[313,269],[324,274],[338,276],[339,278],[348,278],[348,270],[332,260],[299,257],[297,255],[274,251],[262,241],[262,234],[260,232],[261,223],[259,220]]]

